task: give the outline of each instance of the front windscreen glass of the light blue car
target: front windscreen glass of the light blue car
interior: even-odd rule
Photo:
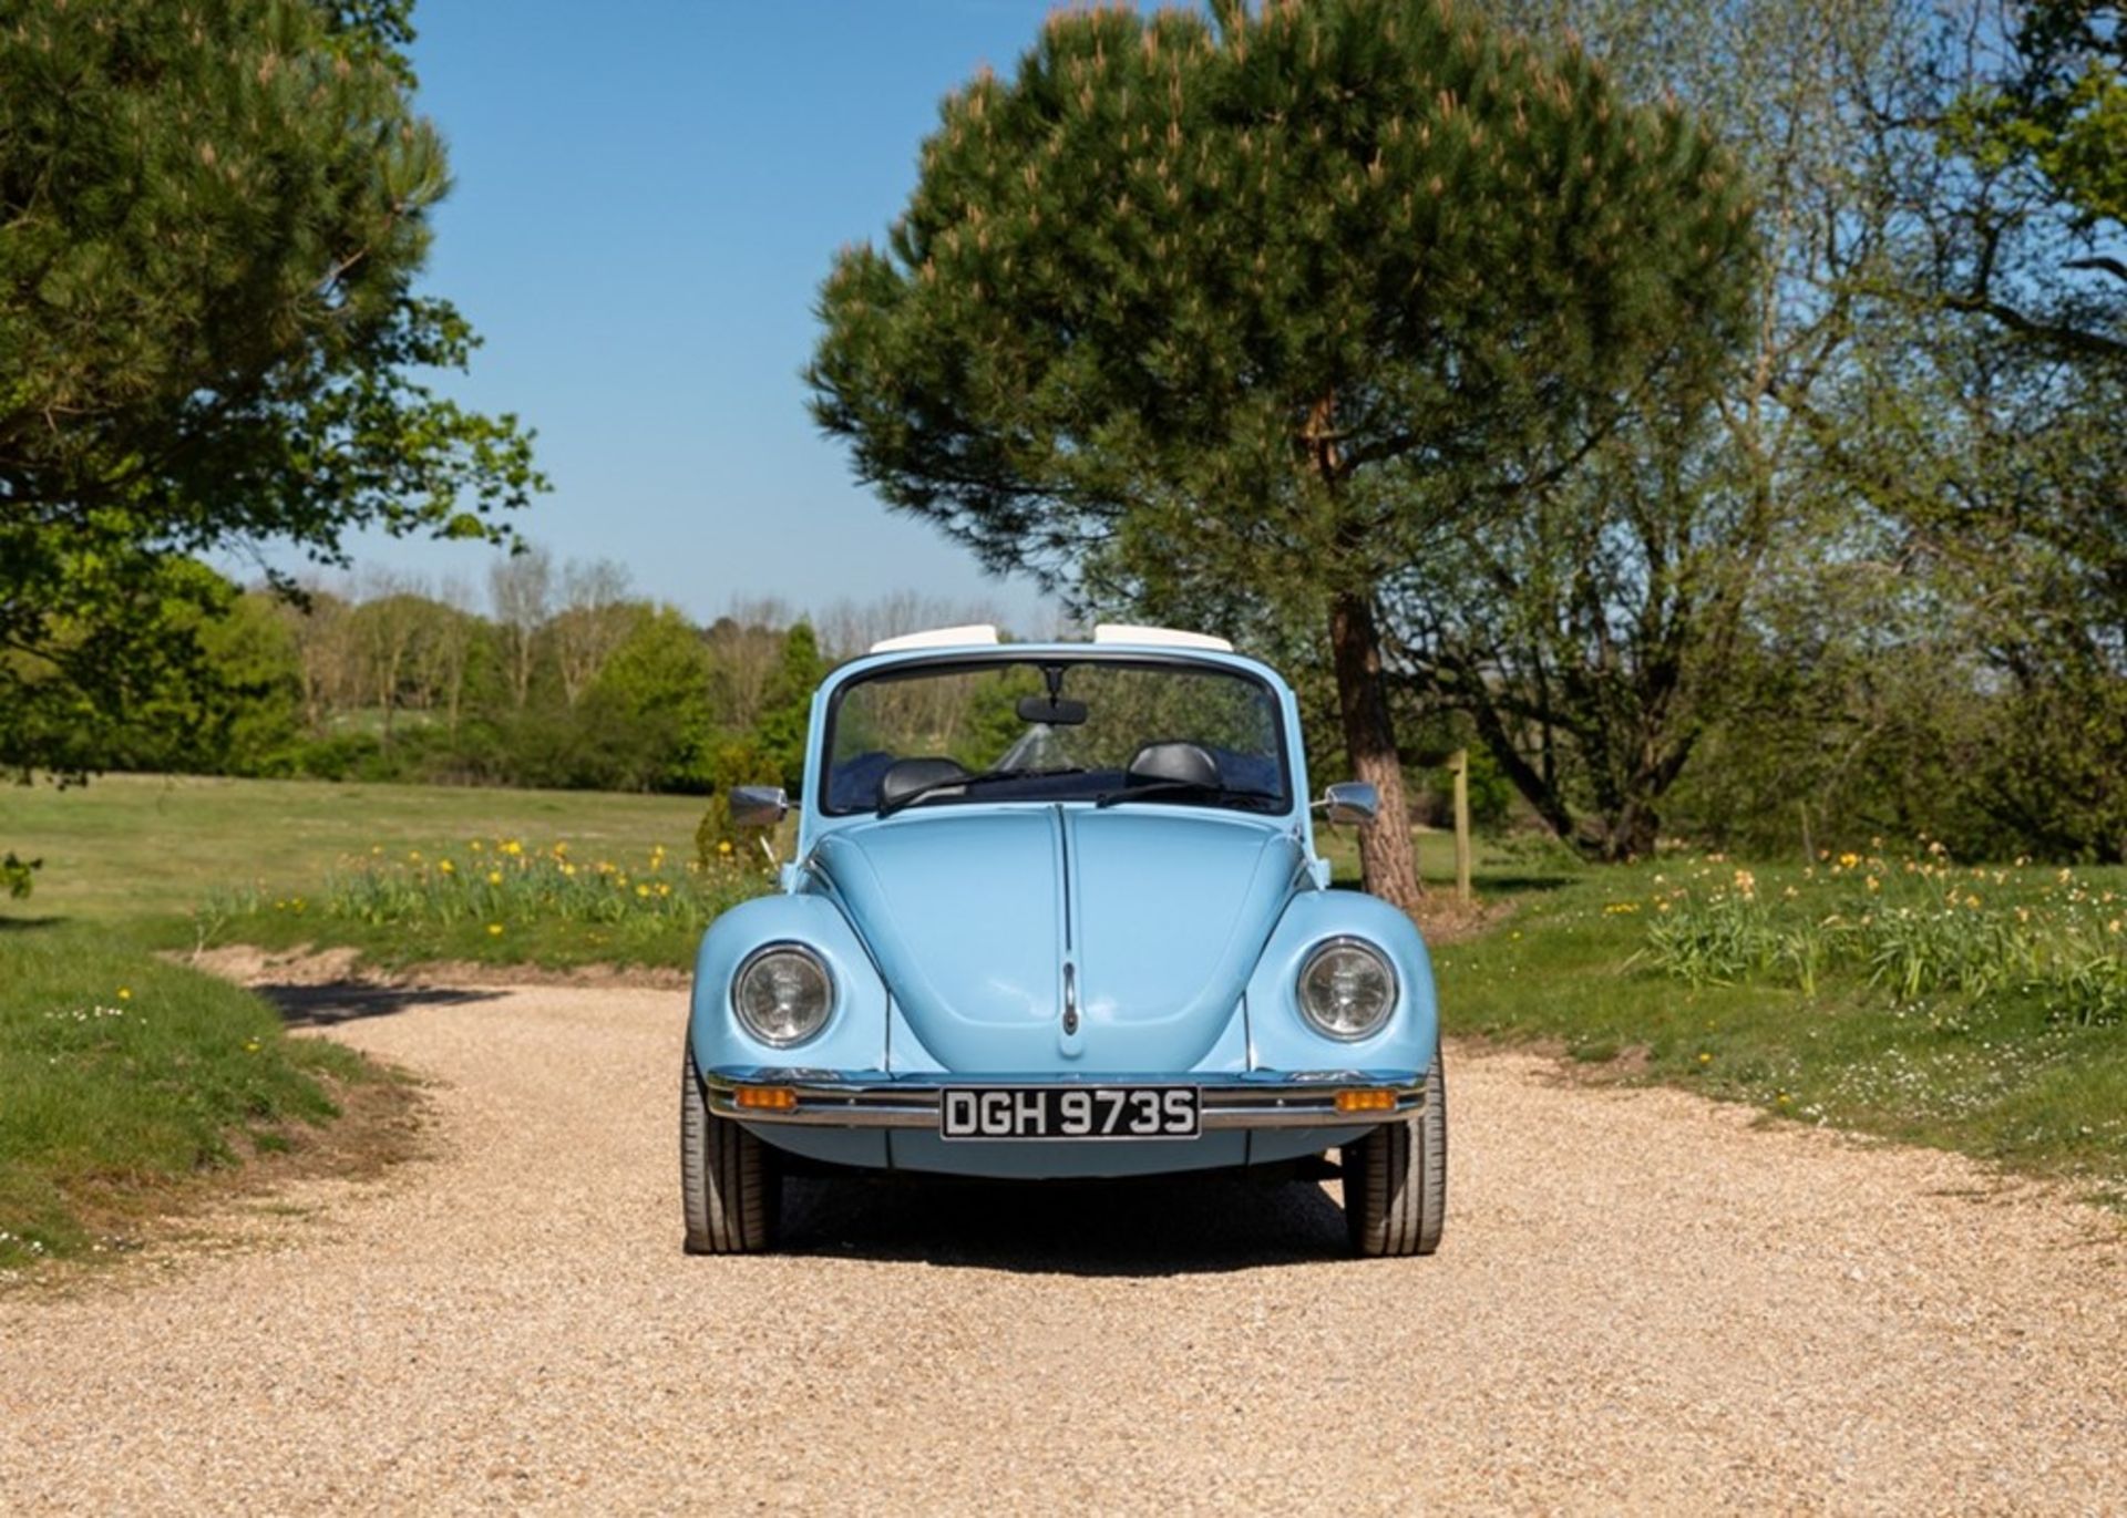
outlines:
[[[883,670],[836,695],[825,810],[1095,802],[1285,812],[1283,712],[1238,670],[1027,659]]]

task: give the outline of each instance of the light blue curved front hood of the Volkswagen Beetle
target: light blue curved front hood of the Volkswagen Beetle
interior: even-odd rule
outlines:
[[[813,865],[923,1046],[891,1063],[1000,1076],[1195,1067],[1304,878],[1263,819],[1149,804],[904,814]]]

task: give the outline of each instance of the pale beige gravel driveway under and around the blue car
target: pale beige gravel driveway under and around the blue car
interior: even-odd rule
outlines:
[[[679,995],[357,1010],[434,1157],[0,1299],[0,1509],[2127,1509],[2118,1220],[1950,1157],[1466,1052],[1429,1261],[1202,1180],[687,1259]]]

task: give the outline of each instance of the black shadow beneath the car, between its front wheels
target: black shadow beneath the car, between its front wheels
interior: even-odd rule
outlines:
[[[1195,1276],[1344,1256],[1344,1212],[1310,1180],[783,1182],[785,1254],[1042,1276]]]

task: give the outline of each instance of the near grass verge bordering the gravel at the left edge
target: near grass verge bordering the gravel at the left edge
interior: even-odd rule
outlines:
[[[381,1078],[123,929],[0,927],[0,1269],[111,1248]]]

